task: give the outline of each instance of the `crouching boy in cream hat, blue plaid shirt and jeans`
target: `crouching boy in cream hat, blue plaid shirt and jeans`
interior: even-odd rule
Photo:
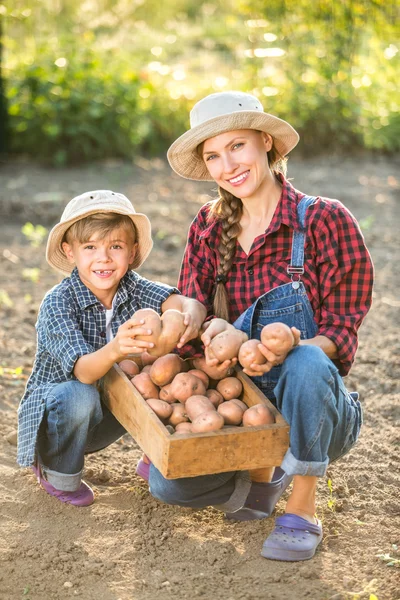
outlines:
[[[125,433],[102,403],[96,383],[114,363],[153,344],[133,325],[140,308],[176,309],[187,326],[181,347],[198,335],[205,307],[176,288],[133,271],[152,248],[149,219],[115,192],[73,198],[47,242],[48,263],[69,277],[40,310],[37,352],[18,411],[18,463],[32,466],[46,492],[75,506],[94,501],[81,480],[84,455]]]

